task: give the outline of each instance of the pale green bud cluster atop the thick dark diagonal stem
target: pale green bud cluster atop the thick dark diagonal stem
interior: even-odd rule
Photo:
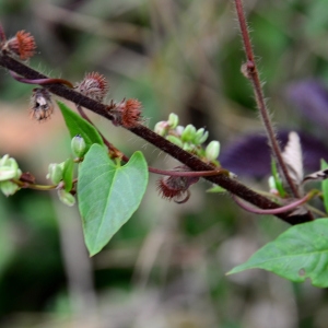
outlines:
[[[154,131],[185,151],[196,154],[204,162],[219,164],[220,142],[211,141],[203,148],[202,144],[209,137],[209,132],[204,128],[197,130],[192,125],[183,127],[178,124],[178,116],[172,113],[168,120],[159,121],[155,125]]]

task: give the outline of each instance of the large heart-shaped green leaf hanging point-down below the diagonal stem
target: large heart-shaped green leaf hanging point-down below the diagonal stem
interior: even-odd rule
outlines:
[[[93,144],[79,167],[78,199],[84,239],[97,254],[138,209],[148,184],[148,165],[136,152],[125,166]]]

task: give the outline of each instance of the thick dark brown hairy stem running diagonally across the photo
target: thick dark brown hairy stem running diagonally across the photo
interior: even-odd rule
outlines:
[[[4,54],[0,54],[0,66],[31,80],[48,78]],[[75,92],[74,90],[71,90],[61,84],[48,84],[44,87],[47,87],[51,93],[63,97],[68,101],[71,101],[80,106],[83,106],[109,120],[114,119],[113,115],[108,110],[107,105],[97,103]],[[159,136],[157,133],[142,125],[138,125],[137,127],[130,128],[129,130],[136,136],[139,136],[148,142],[152,143],[160,150],[172,155],[174,159],[178,160],[192,171],[213,171],[213,167],[211,165],[202,162],[197,156],[194,156],[192,154],[184,151],[179,147],[175,145],[174,143],[169,142],[168,140],[164,139],[163,137]],[[279,204],[277,204],[276,202],[272,202],[270,199],[255,192],[254,190],[249,189],[248,187],[244,186],[237,180],[230,178],[225,174],[208,176],[206,177],[206,179],[223,187],[231,194],[236,195],[237,197],[253,203],[254,206],[260,209],[276,209],[279,207]],[[277,214],[277,216],[290,224],[297,224],[311,221],[308,214],[290,218],[286,214],[281,213]]]

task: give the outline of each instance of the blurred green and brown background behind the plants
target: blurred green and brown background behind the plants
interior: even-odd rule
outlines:
[[[304,78],[328,80],[327,1],[246,0],[245,8],[277,126],[305,126],[283,92]],[[103,73],[108,101],[140,99],[149,127],[174,112],[183,125],[207,127],[223,148],[262,131],[239,72],[233,1],[0,0],[0,14],[8,36],[20,30],[35,36],[32,67],[72,82]],[[48,164],[70,155],[70,139],[58,108],[46,122],[28,119],[32,89],[1,70],[0,155],[14,156],[46,184]],[[91,116],[127,154],[141,149],[152,166],[177,165]],[[259,270],[224,276],[286,224],[206,194],[204,181],[187,203],[168,202],[157,196],[156,178],[141,208],[93,258],[77,208],[65,207],[56,192],[0,195],[0,327],[327,327],[326,291]]]

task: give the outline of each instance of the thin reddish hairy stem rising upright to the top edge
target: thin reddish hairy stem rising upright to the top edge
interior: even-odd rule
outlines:
[[[253,84],[257,107],[260,113],[261,119],[263,121],[266,131],[268,133],[268,139],[272,149],[272,153],[282,171],[282,174],[293,196],[295,198],[300,198],[301,196],[297,190],[297,187],[295,186],[294,181],[291,179],[285,163],[282,159],[281,149],[279,147],[279,142],[277,140],[274,129],[271,124],[270,114],[265,102],[263,91],[262,91],[258,69],[256,66],[256,60],[253,52],[253,47],[250,43],[250,37],[247,28],[242,0],[235,0],[235,7],[237,11],[237,16],[238,16],[238,22],[241,26],[242,38],[243,38],[246,60],[247,60],[246,63],[243,66],[243,72],[246,74],[246,77],[250,80]]]

